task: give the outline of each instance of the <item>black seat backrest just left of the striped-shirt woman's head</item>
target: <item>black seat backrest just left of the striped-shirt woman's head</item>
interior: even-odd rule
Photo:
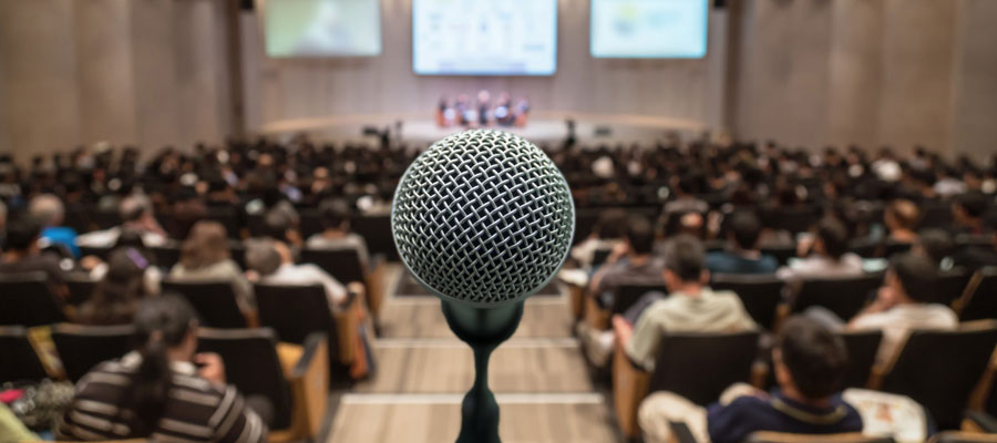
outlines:
[[[93,367],[121,358],[133,349],[135,328],[123,326],[82,326],[61,323],[52,328],[52,342],[62,360],[65,375],[73,383]]]

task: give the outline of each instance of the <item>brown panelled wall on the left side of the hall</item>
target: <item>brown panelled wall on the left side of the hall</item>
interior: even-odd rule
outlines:
[[[0,1],[0,151],[230,132],[220,0]]]

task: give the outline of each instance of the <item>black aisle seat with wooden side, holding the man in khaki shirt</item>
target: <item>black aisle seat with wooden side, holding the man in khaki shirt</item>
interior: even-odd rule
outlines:
[[[617,341],[613,357],[613,398],[624,435],[639,434],[637,408],[650,393],[670,391],[706,405],[717,401],[731,384],[749,382],[758,358],[759,338],[757,331],[665,334],[650,373],[636,367]]]

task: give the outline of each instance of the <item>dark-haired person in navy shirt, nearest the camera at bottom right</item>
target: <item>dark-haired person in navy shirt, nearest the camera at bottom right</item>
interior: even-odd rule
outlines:
[[[671,392],[640,404],[638,420],[648,443],[665,443],[669,422],[685,422],[699,442],[740,443],[752,432],[839,434],[862,431],[862,416],[837,393],[847,368],[841,337],[816,321],[791,317],[779,331],[772,363],[779,388],[759,391],[734,384],[709,408]]]

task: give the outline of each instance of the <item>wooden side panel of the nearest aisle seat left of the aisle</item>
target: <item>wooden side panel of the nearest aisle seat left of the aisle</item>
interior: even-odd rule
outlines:
[[[329,403],[329,347],[325,333],[315,332],[301,347],[278,344],[285,378],[291,388],[294,413],[287,430],[271,432],[271,441],[314,440]]]

